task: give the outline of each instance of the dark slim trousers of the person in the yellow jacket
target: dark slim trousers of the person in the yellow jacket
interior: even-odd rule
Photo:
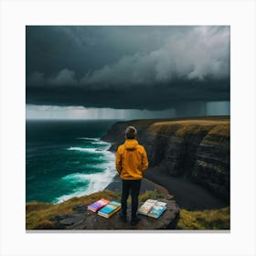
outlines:
[[[131,190],[132,196],[132,219],[136,217],[138,204],[139,204],[139,194],[141,188],[142,180],[135,179],[135,180],[125,180],[123,179],[123,187],[122,187],[122,211],[123,215],[126,216],[127,212],[127,199],[129,197],[129,193]]]

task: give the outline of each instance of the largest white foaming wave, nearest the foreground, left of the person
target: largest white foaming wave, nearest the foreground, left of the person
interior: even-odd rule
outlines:
[[[101,173],[97,173],[97,174],[75,173],[68,176],[64,176],[62,177],[62,180],[65,180],[73,184],[83,183],[84,186],[78,187],[75,191],[73,191],[69,195],[63,195],[61,197],[55,198],[53,203],[59,204],[72,197],[82,197],[82,196],[90,195],[91,193],[94,193],[94,192],[101,191],[112,182],[112,178],[115,175],[116,175],[116,171],[114,170],[113,163],[112,163],[112,165],[108,165],[107,168]]]

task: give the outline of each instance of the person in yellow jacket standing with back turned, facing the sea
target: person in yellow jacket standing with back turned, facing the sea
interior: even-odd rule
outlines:
[[[122,178],[122,210],[119,219],[127,222],[127,199],[130,191],[132,196],[131,225],[136,225],[140,218],[137,216],[138,197],[144,171],[148,168],[147,155],[144,146],[136,140],[137,130],[128,126],[125,130],[125,142],[117,149],[115,166]]]

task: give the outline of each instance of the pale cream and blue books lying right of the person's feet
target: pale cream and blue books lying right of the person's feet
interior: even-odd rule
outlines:
[[[158,219],[166,209],[166,203],[147,199],[138,209],[138,213]]]

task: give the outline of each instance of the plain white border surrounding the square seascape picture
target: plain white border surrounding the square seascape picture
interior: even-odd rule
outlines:
[[[1,1],[0,255],[255,255],[254,1]],[[25,26],[229,25],[230,233],[26,233]]]

